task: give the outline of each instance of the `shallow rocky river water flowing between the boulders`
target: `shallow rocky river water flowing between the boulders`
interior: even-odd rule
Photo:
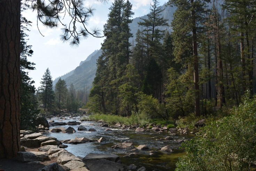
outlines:
[[[79,117],[70,118],[66,117],[65,120],[61,118],[51,118],[50,120],[54,120],[55,122],[69,122],[69,121],[77,121],[80,122]],[[49,120],[48,120],[49,121]],[[90,124],[94,125],[90,125]],[[82,122],[81,125],[88,129],[94,128],[95,132],[89,131],[77,131],[79,125],[72,125],[76,132],[75,133],[53,133],[46,132],[44,133],[46,136],[56,137],[57,140],[64,139],[75,139],[78,138],[88,138],[88,139],[100,139],[104,137],[107,141],[104,142],[88,142],[81,144],[66,144],[68,145],[66,150],[73,153],[76,156],[84,157],[89,153],[103,153],[103,154],[115,154],[120,156],[120,160],[125,165],[135,164],[137,168],[139,166],[144,166],[147,171],[170,171],[175,170],[175,163],[178,161],[178,157],[184,155],[184,151],[180,150],[179,147],[181,143],[178,143],[177,140],[180,139],[191,139],[193,137],[192,134],[178,134],[176,136],[172,136],[173,140],[164,140],[165,137],[170,136],[168,131],[164,131],[162,133],[154,132],[150,130],[150,132],[135,132],[135,129],[122,129],[122,127],[109,127],[113,131],[104,131],[107,127],[100,127],[100,123],[85,121]],[[68,128],[69,125],[62,125],[65,128]],[[51,128],[59,127],[59,126],[51,126]],[[163,138],[163,140],[160,140]],[[127,140],[131,140],[135,147],[139,145],[146,145],[149,147],[148,150],[139,150],[139,151],[130,151],[126,149],[113,149],[111,146],[116,145],[117,143],[121,143]],[[168,153],[165,151],[161,151],[161,148],[164,146],[171,146],[173,149],[172,153]],[[150,156],[149,151],[157,151],[154,155]],[[138,155],[123,157],[125,155],[129,155],[130,153],[136,152]]]

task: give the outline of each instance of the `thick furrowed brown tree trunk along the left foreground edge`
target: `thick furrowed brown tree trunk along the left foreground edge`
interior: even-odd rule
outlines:
[[[0,1],[0,158],[20,149],[21,1]]]

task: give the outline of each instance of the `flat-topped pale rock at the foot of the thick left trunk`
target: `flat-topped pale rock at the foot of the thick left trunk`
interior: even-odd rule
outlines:
[[[45,161],[49,159],[49,155],[45,152],[26,151],[18,152],[16,159],[22,162]]]

